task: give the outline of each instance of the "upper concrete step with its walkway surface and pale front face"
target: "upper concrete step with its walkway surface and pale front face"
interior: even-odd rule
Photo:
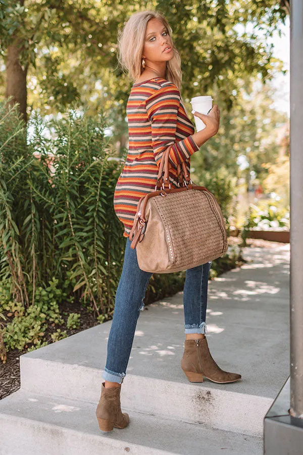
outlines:
[[[180,367],[183,293],[140,313],[123,382],[139,413],[262,436],[263,419],[289,374],[289,245],[245,248],[250,262],[209,282],[207,338],[231,384],[190,383]],[[96,402],[112,322],[20,357],[21,387]]]

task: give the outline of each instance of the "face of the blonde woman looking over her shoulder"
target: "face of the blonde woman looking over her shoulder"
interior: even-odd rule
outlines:
[[[163,52],[167,46],[170,51]],[[172,41],[167,28],[156,18],[147,22],[142,57],[150,62],[167,62],[174,56]]]

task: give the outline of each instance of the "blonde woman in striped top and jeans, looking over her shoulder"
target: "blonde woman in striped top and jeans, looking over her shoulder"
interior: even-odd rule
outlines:
[[[179,92],[180,56],[174,48],[171,28],[154,11],[135,13],[119,37],[119,60],[133,77],[127,102],[129,152],[119,176],[114,207],[124,224],[126,248],[118,285],[113,321],[102,377],[102,393],[96,409],[99,428],[111,431],[125,428],[127,413],[120,406],[121,384],[132,348],[135,328],[149,279],[153,274],[139,268],[136,250],[130,248],[129,234],[141,196],[155,191],[158,166],[163,152],[170,149],[170,183],[178,187],[177,165],[190,168],[190,156],[214,136],[219,128],[220,111],[215,105],[209,115],[194,112],[206,128],[194,133]],[[186,270],[184,285],[185,349],[181,368],[191,382],[203,376],[218,383],[234,382],[241,375],[221,370],[210,354],[205,337],[207,289],[211,262]]]

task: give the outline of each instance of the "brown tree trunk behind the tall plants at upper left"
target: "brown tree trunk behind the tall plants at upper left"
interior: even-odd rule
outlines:
[[[28,64],[22,66],[19,61],[19,55],[22,50],[23,45],[21,44],[21,41],[17,39],[8,47],[6,61],[7,86],[5,96],[6,98],[12,96],[10,101],[11,105],[14,105],[16,102],[19,103],[19,110],[27,123],[26,75]]]

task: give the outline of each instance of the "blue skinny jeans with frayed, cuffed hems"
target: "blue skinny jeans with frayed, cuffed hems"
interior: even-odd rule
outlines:
[[[103,379],[121,384],[135,335],[140,311],[151,272],[139,268],[136,249],[126,239],[122,274],[116,292],[112,326],[107,345],[107,361]],[[186,270],[183,292],[185,333],[206,332],[208,279],[212,261]]]

